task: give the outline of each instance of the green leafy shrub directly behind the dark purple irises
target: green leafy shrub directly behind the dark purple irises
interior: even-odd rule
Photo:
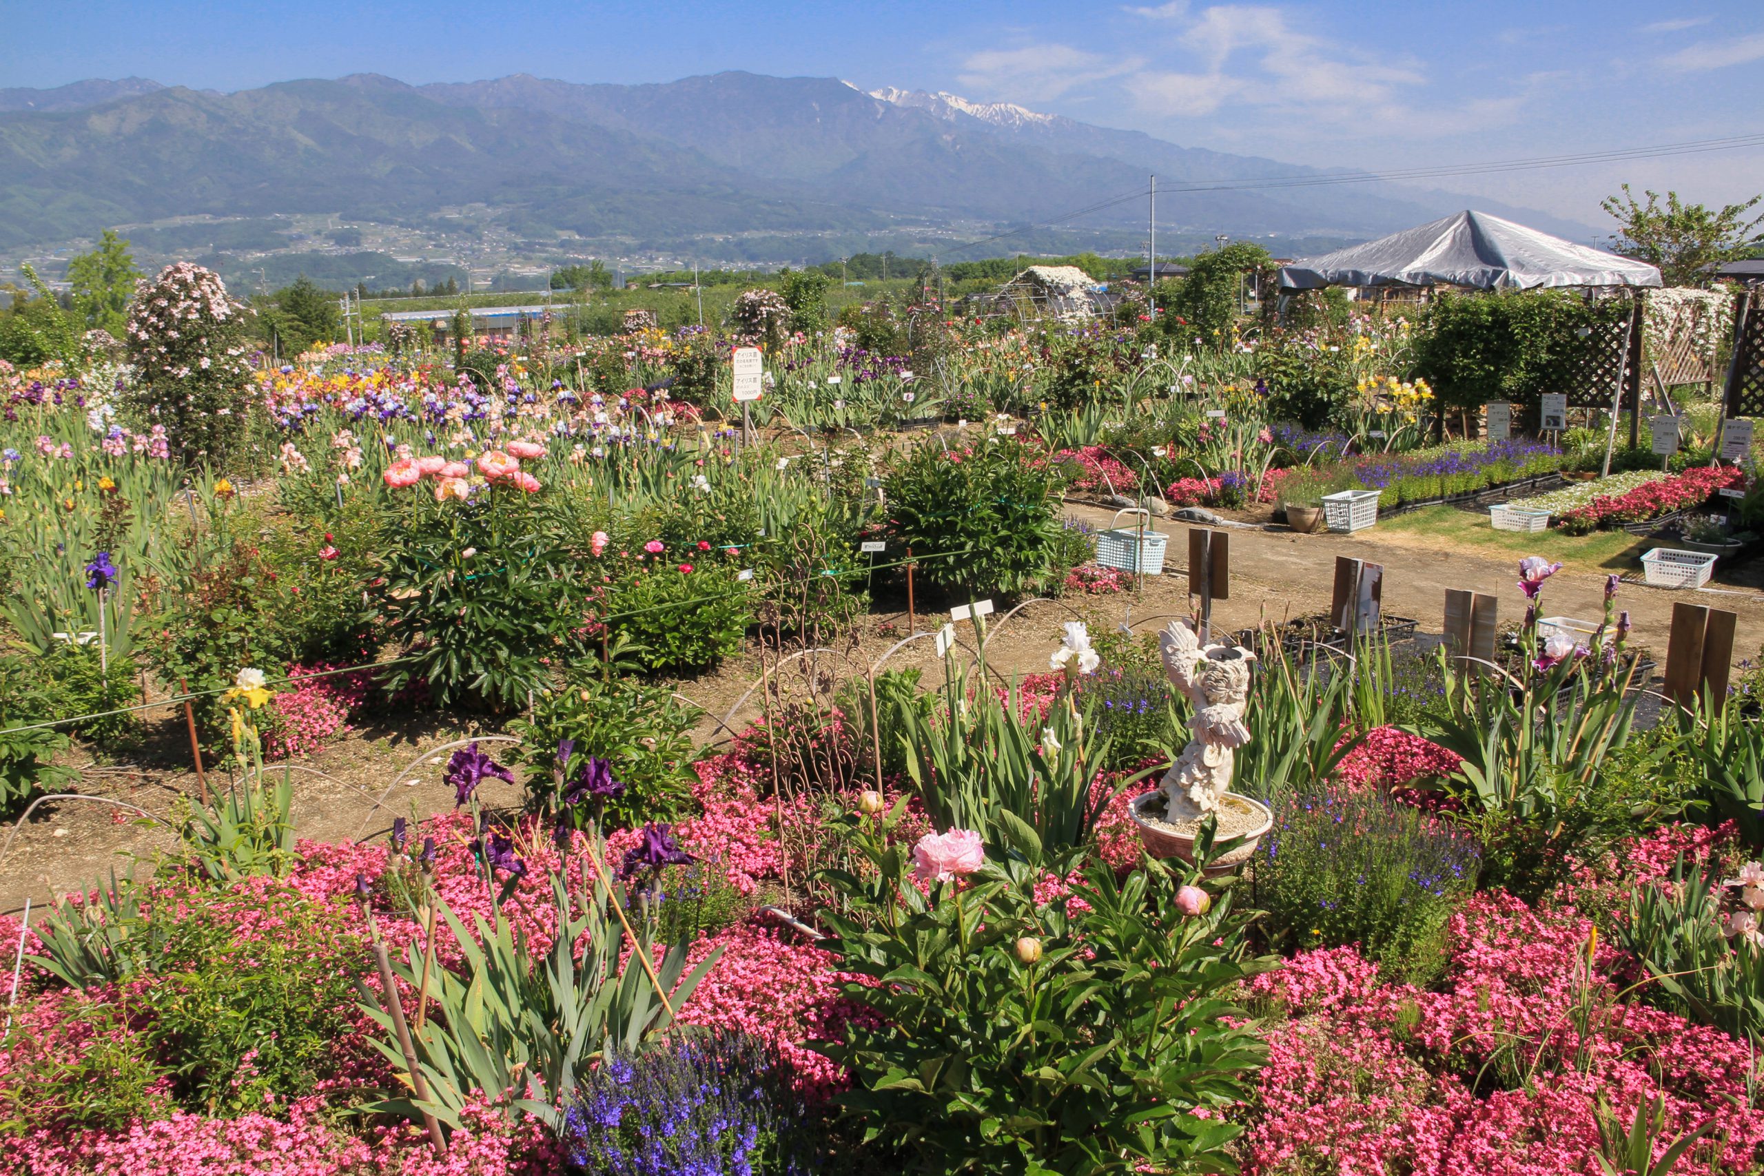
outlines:
[[[510,732],[520,735],[519,763],[527,769],[527,800],[545,811],[570,811],[572,827],[586,829],[593,804],[564,806],[557,788],[557,748],[572,741],[570,778],[586,770],[591,758],[607,760],[624,785],[617,797],[600,806],[602,827],[670,822],[691,804],[697,712],[665,686],[628,677],[605,679],[598,666],[584,666],[533,700],[533,718],[517,719]]]

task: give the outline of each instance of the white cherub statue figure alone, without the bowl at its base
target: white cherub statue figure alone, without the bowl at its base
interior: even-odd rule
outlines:
[[[1159,647],[1170,682],[1194,703],[1194,739],[1162,779],[1166,820],[1180,823],[1212,813],[1231,786],[1235,753],[1249,742],[1244,709],[1256,654],[1237,645],[1201,645],[1185,621],[1171,621]]]

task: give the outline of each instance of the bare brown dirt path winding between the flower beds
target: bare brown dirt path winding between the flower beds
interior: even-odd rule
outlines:
[[[1094,525],[1106,525],[1111,511],[1088,506],[1069,506],[1067,513]],[[1468,524],[1466,524],[1468,525]],[[1143,622],[1161,626],[1157,617],[1187,610],[1187,577],[1184,573],[1187,545],[1184,524],[1161,522],[1161,531],[1171,534],[1170,557],[1162,577],[1148,577],[1145,594],[1067,598],[1064,603],[1028,605],[1014,619],[995,628],[988,642],[988,661],[1004,675],[1028,674],[1048,668],[1048,654],[1060,636],[1060,622],[1073,615],[1087,617],[1094,628],[1113,629],[1129,617],[1136,631]],[[1547,552],[1547,536],[1540,536],[1538,554]],[[1494,594],[1501,603],[1501,619],[1521,615],[1515,591],[1517,568],[1512,559],[1478,552],[1418,534],[1379,534],[1378,529],[1360,536],[1300,536],[1277,529],[1233,529],[1231,534],[1231,596],[1214,607],[1217,628],[1237,629],[1261,619],[1279,621],[1289,615],[1318,614],[1328,608],[1335,555],[1355,555],[1385,566],[1383,608],[1387,615],[1413,617],[1424,633],[1438,633],[1445,610],[1445,591],[1475,589]],[[1551,614],[1572,617],[1598,617],[1602,614],[1603,577],[1563,571],[1549,582],[1545,603]],[[1671,592],[1641,585],[1623,585],[1621,603],[1635,621],[1635,642],[1651,647],[1663,659],[1672,605],[1679,599],[1697,599],[1716,608],[1730,608],[1739,615],[1734,642],[1736,659],[1757,658],[1764,644],[1764,594],[1736,587],[1729,594]],[[898,608],[903,601],[893,601]],[[1002,615],[1000,615],[1002,617]],[[993,622],[1000,621],[993,617]],[[919,628],[937,628],[946,615],[928,619],[919,614]],[[845,679],[863,675],[889,645],[905,635],[905,615],[878,608],[861,626],[864,631],[856,647],[818,654],[811,666],[822,677]],[[961,636],[972,644],[972,629],[960,626]],[[803,670],[808,659],[799,659],[794,670]],[[887,661],[887,668],[917,665],[924,681],[937,681],[935,651],[930,640],[919,640]],[[713,716],[723,716],[753,686],[760,674],[757,647],[732,659],[716,674],[679,684],[683,696],[702,705]],[[787,675],[790,677],[790,675]],[[790,679],[801,682],[801,677]],[[753,695],[757,698],[757,693]],[[753,718],[753,698],[734,716],[739,728]],[[146,714],[146,739],[131,763],[90,763],[79,755],[71,762],[83,763],[79,781],[71,788],[90,797],[106,797],[141,806],[157,815],[169,815],[182,795],[194,795],[198,781],[191,770],[189,742],[182,712],[169,707]],[[453,793],[441,781],[443,760],[436,753],[443,744],[490,733],[494,726],[478,726],[471,719],[450,714],[404,716],[388,723],[365,723],[360,730],[335,741],[325,753],[295,765],[295,823],[300,836],[337,841],[383,832],[392,816],[430,813],[452,808]],[[702,742],[727,739],[727,732],[711,718],[699,725]],[[415,763],[411,779],[393,788],[383,809],[374,809],[377,797],[402,769]],[[210,774],[210,785],[226,786],[224,772]],[[501,785],[499,785],[501,786]],[[506,786],[505,786],[506,788]],[[515,800],[508,788],[503,802]],[[490,797],[492,802],[497,797]],[[56,894],[92,885],[111,869],[127,869],[131,855],[152,855],[169,845],[164,829],[145,827],[132,815],[104,804],[49,802],[26,822],[11,850],[0,836],[0,910],[16,913],[26,897],[34,903],[34,917]]]

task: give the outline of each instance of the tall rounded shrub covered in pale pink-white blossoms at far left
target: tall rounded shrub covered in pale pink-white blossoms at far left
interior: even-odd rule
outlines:
[[[250,361],[243,316],[220,275],[189,261],[166,266],[134,291],[127,347],[131,407],[164,425],[173,455],[220,467],[245,439]]]

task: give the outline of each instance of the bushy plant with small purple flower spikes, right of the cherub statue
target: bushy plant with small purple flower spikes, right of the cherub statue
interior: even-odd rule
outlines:
[[[1256,846],[1256,904],[1288,947],[1358,943],[1387,975],[1425,986],[1445,924],[1476,885],[1473,834],[1374,790],[1284,797]]]

